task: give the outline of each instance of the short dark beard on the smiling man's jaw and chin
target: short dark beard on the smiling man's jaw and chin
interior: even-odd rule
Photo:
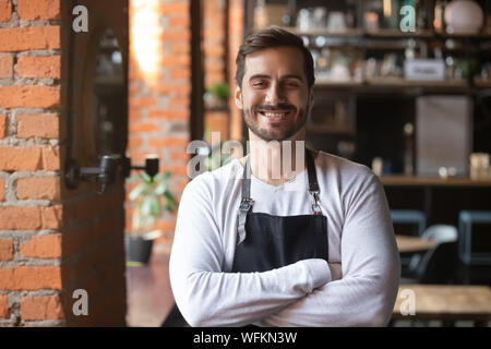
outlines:
[[[294,108],[294,107],[288,107],[288,108]],[[270,109],[270,110],[274,110],[274,109],[285,109],[284,106],[275,106],[275,107],[261,107],[261,108],[255,108],[255,109]],[[248,125],[249,130],[252,131],[252,133],[254,133],[256,136],[259,136],[261,140],[264,141],[285,141],[290,139],[291,136],[294,136],[301,128],[303,128],[303,125],[307,122],[307,117],[308,117],[308,110],[309,110],[309,106],[307,105],[306,108],[300,108],[298,110],[298,118],[296,119],[295,123],[288,125],[285,130],[278,130],[277,132],[271,132],[270,130],[260,128],[258,125],[258,119],[252,115],[256,111],[252,111],[250,109],[246,109],[243,110],[243,115],[244,115],[244,122]],[[284,123],[280,122],[279,127],[284,127]]]

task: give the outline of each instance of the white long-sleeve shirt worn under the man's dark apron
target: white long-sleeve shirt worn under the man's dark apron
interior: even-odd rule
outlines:
[[[191,326],[383,326],[400,262],[383,186],[366,166],[319,153],[328,265],[311,258],[264,273],[231,273],[243,167],[197,176],[179,204],[170,256],[176,303]],[[311,214],[307,170],[279,186],[251,176],[252,212]],[[339,266],[334,277],[330,267]],[[333,268],[334,270],[335,268]]]

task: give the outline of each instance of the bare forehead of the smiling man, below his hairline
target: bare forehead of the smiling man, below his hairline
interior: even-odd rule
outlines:
[[[303,55],[295,47],[273,47],[246,56],[246,74],[299,75],[304,77]]]

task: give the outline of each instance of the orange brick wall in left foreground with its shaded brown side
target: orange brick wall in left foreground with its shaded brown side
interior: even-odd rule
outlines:
[[[124,325],[123,183],[64,186],[67,4],[0,0],[0,326]]]

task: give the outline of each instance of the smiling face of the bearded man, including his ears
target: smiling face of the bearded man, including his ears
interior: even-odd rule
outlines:
[[[244,71],[235,97],[248,128],[265,141],[290,139],[306,124],[313,105],[302,52],[292,47],[264,49],[246,57]]]

